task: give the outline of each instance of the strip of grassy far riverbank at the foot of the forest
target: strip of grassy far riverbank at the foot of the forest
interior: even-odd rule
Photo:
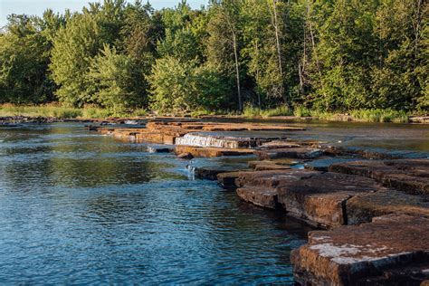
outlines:
[[[55,121],[62,119],[145,119],[159,116],[148,110],[129,110],[114,112],[94,106],[84,108],[63,107],[59,104],[45,105],[0,105],[1,122],[19,121]],[[326,112],[295,108],[294,110],[279,107],[272,110],[247,107],[243,113],[230,111],[195,111],[188,114],[162,114],[167,117],[197,117],[197,118],[243,118],[243,119],[304,119],[327,121],[357,121],[357,122],[396,122],[396,123],[429,123],[428,114],[413,114],[397,110],[351,110],[348,112]]]

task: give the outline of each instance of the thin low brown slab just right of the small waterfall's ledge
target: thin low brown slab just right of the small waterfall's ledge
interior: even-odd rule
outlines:
[[[300,158],[311,159],[320,157],[323,152],[318,148],[277,148],[268,150],[258,150],[255,152],[260,160],[269,160],[275,158]]]

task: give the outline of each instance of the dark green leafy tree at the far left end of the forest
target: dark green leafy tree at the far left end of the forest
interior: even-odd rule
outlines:
[[[12,14],[0,34],[0,101],[52,100],[54,85],[47,72],[50,43],[43,19]]]

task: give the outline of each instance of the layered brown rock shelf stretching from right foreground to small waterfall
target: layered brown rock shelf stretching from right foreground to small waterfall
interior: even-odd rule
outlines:
[[[151,151],[174,152],[186,160],[249,157],[244,168],[192,171],[217,180],[246,202],[324,229],[311,232],[309,243],[291,255],[301,285],[418,285],[429,280],[427,157],[291,140],[303,129],[282,124],[161,119],[137,128],[88,129],[158,144]]]

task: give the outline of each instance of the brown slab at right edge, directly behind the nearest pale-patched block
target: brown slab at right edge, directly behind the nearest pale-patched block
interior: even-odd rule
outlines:
[[[421,195],[409,195],[394,189],[361,194],[346,204],[348,224],[369,223],[376,216],[405,214],[429,217],[429,201]]]

